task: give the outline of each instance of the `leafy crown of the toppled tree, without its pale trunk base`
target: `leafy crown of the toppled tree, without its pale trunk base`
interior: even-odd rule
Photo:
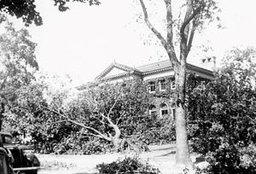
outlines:
[[[61,86],[55,90],[43,78],[23,87],[9,113],[14,130],[29,133],[41,153],[104,153],[110,147],[106,141],[112,142],[118,131],[124,138],[143,133],[148,124],[148,90],[141,81],[99,85],[79,94]],[[90,136],[105,142],[89,142]]]

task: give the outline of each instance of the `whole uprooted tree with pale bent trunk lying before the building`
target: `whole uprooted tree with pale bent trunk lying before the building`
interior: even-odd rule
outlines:
[[[49,142],[63,138],[61,131],[65,131],[63,136],[79,132],[80,136],[96,136],[119,148],[122,140],[139,138],[150,124],[148,88],[141,80],[98,85],[73,97],[67,90],[49,95],[47,88],[35,83],[20,90],[20,103],[9,117],[12,126],[25,120],[22,123],[28,133],[44,136]]]

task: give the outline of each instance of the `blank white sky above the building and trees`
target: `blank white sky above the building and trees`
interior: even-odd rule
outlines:
[[[225,51],[232,47],[256,44],[255,0],[218,2],[222,9],[219,15],[224,29],[212,24],[197,34],[189,63],[200,66],[199,62],[205,55],[196,49],[199,45],[212,46],[207,56],[216,56],[220,62]],[[141,8],[138,3],[102,0],[102,5],[92,7],[70,3],[70,10],[64,13],[54,7],[52,0],[36,0],[36,5],[44,24],[26,29],[38,44],[39,67],[48,73],[69,74],[74,85],[93,80],[113,61],[137,67],[167,59],[165,51],[154,44],[154,37],[149,35],[151,32],[140,20]],[[25,27],[21,20],[10,20],[17,28]]]

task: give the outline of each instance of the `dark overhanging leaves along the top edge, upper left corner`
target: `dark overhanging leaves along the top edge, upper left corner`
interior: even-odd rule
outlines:
[[[55,6],[58,7],[60,11],[66,11],[68,9],[67,3],[69,0],[54,0]],[[89,3],[90,5],[99,5],[98,0],[73,0],[73,2],[79,3]],[[0,20],[6,20],[5,14],[15,16],[16,18],[21,18],[25,23],[25,26],[29,26],[32,22],[36,26],[41,26],[43,24],[43,19],[40,13],[36,10],[35,0],[4,0],[0,3]],[[0,22],[1,23],[1,22]]]

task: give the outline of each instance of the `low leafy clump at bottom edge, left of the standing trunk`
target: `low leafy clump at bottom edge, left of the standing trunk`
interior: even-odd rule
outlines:
[[[115,174],[115,173],[150,173],[150,174],[159,174],[159,169],[156,169],[144,163],[141,159],[137,157],[126,157],[121,160],[118,159],[110,164],[99,164],[96,165],[96,169],[100,174]]]

